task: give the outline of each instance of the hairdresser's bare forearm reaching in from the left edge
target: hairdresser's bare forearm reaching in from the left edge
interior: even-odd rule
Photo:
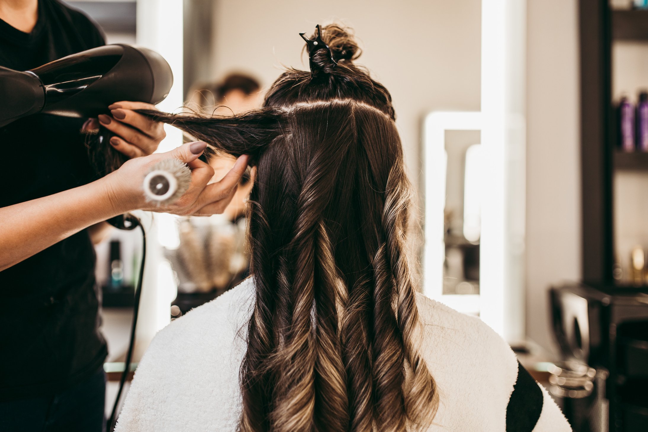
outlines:
[[[0,208],[0,271],[84,228],[132,210],[104,177],[58,194]]]

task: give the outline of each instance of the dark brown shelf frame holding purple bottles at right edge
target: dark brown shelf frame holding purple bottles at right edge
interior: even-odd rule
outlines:
[[[610,10],[607,0],[580,0],[579,23],[583,281],[615,286],[614,174],[648,174],[648,153],[616,150],[612,42],[648,46],[648,10]]]

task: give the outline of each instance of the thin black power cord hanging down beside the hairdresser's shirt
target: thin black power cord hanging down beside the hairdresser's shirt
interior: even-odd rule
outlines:
[[[128,372],[130,372],[130,362],[133,358],[133,347],[135,346],[135,327],[137,326],[137,314],[139,313],[139,299],[142,294],[142,280],[144,278],[144,263],[146,260],[146,232],[142,226],[141,221],[133,216],[132,214],[124,214],[113,218],[110,221],[111,225],[119,228],[131,230],[135,227],[139,227],[142,231],[142,261],[139,265],[139,278],[137,279],[137,285],[135,286],[135,304],[133,304],[133,322],[130,327],[130,342],[128,343],[128,351],[126,352],[126,361],[124,361],[124,372],[122,372],[121,379],[119,380],[119,390],[117,391],[117,396],[115,397],[115,404],[113,405],[113,411],[110,414],[110,418],[106,424],[107,430],[112,432],[115,427],[115,422],[117,421],[117,407],[119,407],[119,400],[121,399],[122,391],[124,390],[124,383],[126,383],[126,378],[128,378]]]

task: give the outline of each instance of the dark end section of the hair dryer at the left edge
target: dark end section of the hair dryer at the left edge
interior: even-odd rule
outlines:
[[[45,89],[38,76],[0,66],[0,127],[38,113],[45,105]]]

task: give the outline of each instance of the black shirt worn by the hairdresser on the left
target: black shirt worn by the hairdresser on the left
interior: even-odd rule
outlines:
[[[29,34],[0,20],[0,65],[18,71],[104,43],[87,16],[56,0],[39,0]],[[0,207],[91,181],[84,120],[32,115],[0,128]],[[97,371],[107,354],[99,298],[87,230],[0,271],[0,400],[56,392]]]

